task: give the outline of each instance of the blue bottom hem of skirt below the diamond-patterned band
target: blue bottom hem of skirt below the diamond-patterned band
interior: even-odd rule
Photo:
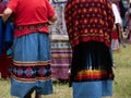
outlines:
[[[37,81],[35,83],[23,83],[11,78],[11,95],[24,98],[24,96],[34,88],[37,93],[43,95],[52,94],[52,81]]]

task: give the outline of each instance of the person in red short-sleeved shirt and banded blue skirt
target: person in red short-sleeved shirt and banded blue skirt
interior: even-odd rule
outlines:
[[[10,0],[2,20],[13,17],[13,65],[11,95],[35,98],[52,94],[50,71],[50,39],[48,24],[57,15],[48,0]]]

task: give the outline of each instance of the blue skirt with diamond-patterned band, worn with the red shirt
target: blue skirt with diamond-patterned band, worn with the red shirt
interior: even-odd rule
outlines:
[[[46,33],[33,33],[13,40],[11,95],[24,98],[35,89],[52,94],[50,71],[50,39]]]

